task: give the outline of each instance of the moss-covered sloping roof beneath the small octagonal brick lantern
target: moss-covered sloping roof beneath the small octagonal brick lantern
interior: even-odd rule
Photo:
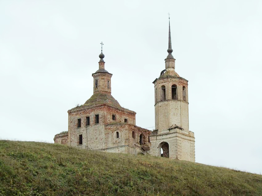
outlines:
[[[83,106],[99,105],[99,104],[108,104],[115,107],[121,107],[120,104],[115,100],[115,98],[109,93],[94,93]]]

